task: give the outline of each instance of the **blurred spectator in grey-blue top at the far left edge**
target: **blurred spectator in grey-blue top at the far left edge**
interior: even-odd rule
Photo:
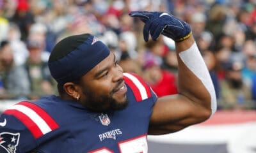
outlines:
[[[0,45],[0,99],[19,99],[28,96],[29,79],[24,66],[16,66],[13,52],[8,41]]]

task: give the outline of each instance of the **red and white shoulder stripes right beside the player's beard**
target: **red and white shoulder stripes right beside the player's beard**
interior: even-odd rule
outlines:
[[[131,87],[136,101],[143,101],[152,96],[150,87],[137,75],[124,73],[124,80],[125,83]]]

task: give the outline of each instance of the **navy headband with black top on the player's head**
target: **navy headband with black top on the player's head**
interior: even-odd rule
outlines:
[[[91,34],[69,36],[58,42],[49,58],[49,69],[58,84],[78,80],[110,54]]]

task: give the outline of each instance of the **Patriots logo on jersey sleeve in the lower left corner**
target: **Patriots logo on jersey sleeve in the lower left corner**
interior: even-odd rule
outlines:
[[[19,144],[20,133],[0,133],[0,152],[15,153]]]

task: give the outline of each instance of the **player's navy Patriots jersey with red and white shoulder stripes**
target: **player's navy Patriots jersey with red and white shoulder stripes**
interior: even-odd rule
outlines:
[[[0,152],[147,152],[147,132],[156,94],[136,75],[124,73],[129,105],[109,113],[49,96],[22,101],[0,117]]]

